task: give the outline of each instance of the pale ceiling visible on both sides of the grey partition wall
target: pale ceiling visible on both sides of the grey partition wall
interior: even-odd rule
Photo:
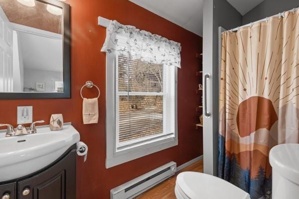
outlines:
[[[202,36],[203,0],[130,0],[149,11]],[[263,0],[227,0],[242,15]],[[165,9],[167,8],[167,9]]]

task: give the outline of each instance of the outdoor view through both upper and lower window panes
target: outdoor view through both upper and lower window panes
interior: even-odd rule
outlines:
[[[163,65],[118,56],[118,137],[163,133]]]

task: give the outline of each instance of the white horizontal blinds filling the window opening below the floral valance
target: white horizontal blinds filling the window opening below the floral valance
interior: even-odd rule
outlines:
[[[174,67],[117,57],[119,143],[174,133],[174,102]]]

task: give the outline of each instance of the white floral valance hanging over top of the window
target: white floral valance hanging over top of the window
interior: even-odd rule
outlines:
[[[101,51],[153,64],[181,67],[180,43],[131,25],[122,25],[116,20],[111,21],[107,27],[106,40]]]

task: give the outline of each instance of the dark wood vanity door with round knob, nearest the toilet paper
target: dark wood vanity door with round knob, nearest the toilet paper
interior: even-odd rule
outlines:
[[[18,199],[76,199],[76,151],[49,169],[18,182]]]

